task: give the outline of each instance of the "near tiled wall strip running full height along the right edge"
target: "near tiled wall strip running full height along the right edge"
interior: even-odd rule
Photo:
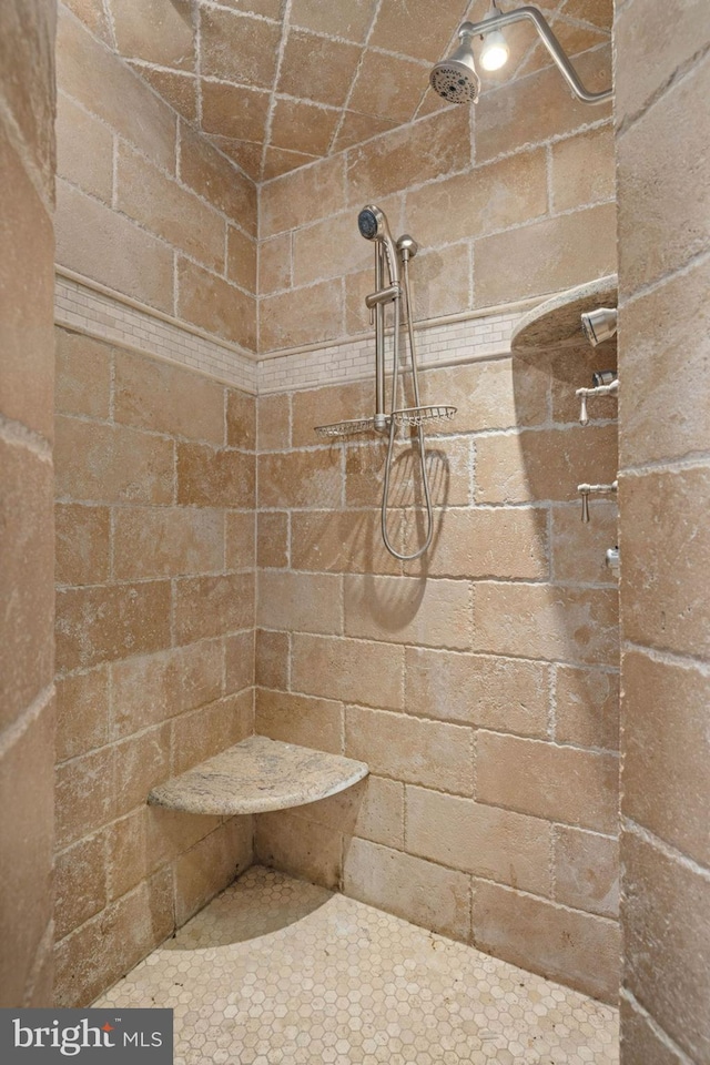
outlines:
[[[702,0],[629,0],[617,9],[621,1059],[704,1065],[710,20]]]

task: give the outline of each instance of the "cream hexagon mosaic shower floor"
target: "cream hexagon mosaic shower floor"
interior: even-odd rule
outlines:
[[[97,1006],[171,1006],[175,1065],[611,1065],[617,1012],[254,866]]]

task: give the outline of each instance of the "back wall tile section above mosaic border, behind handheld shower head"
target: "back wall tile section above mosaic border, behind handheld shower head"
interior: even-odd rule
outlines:
[[[611,82],[608,47],[575,60]],[[575,102],[557,69],[437,111],[260,187],[260,352],[369,329],[378,203],[420,243],[417,318],[565,288],[616,268],[611,109]]]

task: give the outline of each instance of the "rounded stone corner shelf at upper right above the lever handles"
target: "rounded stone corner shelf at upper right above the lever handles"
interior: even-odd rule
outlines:
[[[581,331],[580,315],[587,311],[596,311],[597,307],[616,307],[617,288],[617,275],[609,274],[560,292],[551,300],[532,307],[520,318],[513,332],[513,354],[527,355],[550,348],[584,347],[588,342]]]

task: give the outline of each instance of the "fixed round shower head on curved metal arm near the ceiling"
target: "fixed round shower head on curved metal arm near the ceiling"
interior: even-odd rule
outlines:
[[[527,4],[515,11],[501,12],[495,0],[481,22],[462,22],[458,29],[460,41],[458,48],[448,59],[436,63],[432,70],[429,82],[434,91],[450,103],[476,103],[480,93],[480,79],[476,73],[471,47],[474,37],[480,36],[484,39],[481,67],[485,70],[498,70],[505,63],[508,51],[500,31],[506,26],[524,19],[532,22],[562,78],[578,100],[582,103],[604,103],[605,100],[609,100],[612,89],[605,89],[604,92],[589,92],[585,89],[565,49],[537,8]]]

